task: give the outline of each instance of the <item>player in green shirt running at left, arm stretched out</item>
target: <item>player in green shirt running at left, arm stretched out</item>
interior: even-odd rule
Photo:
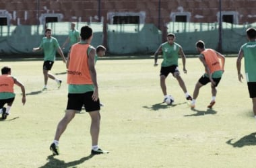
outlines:
[[[59,46],[59,42],[56,38],[51,36],[51,29],[46,28],[45,37],[42,38],[40,46],[37,48],[33,48],[33,52],[44,50],[44,64],[42,66],[43,74],[44,74],[44,87],[43,90],[47,89],[48,78],[53,79],[57,82],[58,88],[61,87],[61,80],[57,79],[53,74],[49,73],[53,67],[53,63],[56,59],[56,50],[59,52],[61,57],[63,58],[63,62],[66,62],[65,56]]]

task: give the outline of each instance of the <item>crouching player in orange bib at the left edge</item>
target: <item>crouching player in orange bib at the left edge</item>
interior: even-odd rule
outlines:
[[[10,114],[11,105],[15,99],[13,86],[18,85],[22,89],[22,103],[26,103],[25,87],[16,79],[11,76],[11,68],[3,67],[1,69],[2,75],[0,76],[0,114],[2,119],[5,120]],[[3,107],[7,103],[7,108]]]

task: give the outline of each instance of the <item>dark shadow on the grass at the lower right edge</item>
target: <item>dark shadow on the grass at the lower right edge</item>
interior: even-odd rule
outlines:
[[[233,139],[226,141],[227,144],[232,145],[234,148],[242,148],[243,146],[252,146],[256,145],[256,132],[253,132],[249,135],[243,136],[241,139],[236,142],[231,142]]]

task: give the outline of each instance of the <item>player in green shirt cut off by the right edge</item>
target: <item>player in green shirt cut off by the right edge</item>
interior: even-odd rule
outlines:
[[[256,29],[248,28],[246,33],[249,42],[243,44],[238,52],[236,69],[238,80],[242,81],[241,60],[245,57],[245,77],[247,79],[249,95],[253,100],[253,113],[256,118]]]

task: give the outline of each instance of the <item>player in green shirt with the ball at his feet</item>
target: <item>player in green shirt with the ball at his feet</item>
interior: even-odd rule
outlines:
[[[185,83],[183,79],[181,78],[179,68],[178,68],[178,58],[179,55],[181,55],[182,62],[183,62],[183,72],[187,73],[187,69],[185,67],[186,65],[186,56],[183,52],[182,47],[174,42],[175,35],[170,33],[167,35],[167,42],[164,42],[159,46],[159,48],[156,50],[154,54],[154,66],[157,66],[158,63],[158,54],[162,52],[163,54],[163,60],[160,70],[160,86],[162,89],[162,93],[164,94],[164,102],[168,98],[167,91],[166,91],[166,83],[165,79],[168,76],[169,73],[172,73],[172,76],[177,79],[179,82],[179,85],[181,86],[181,89],[183,89],[185,93],[185,97],[187,100],[192,100],[192,97],[189,95],[187,88],[185,86]]]

